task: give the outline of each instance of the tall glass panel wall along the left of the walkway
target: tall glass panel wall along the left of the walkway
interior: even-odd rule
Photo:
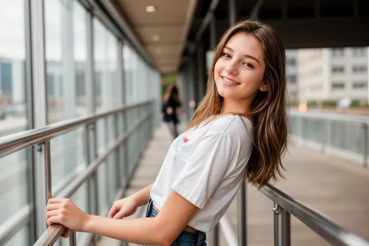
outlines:
[[[158,105],[160,98],[158,73],[147,65],[123,37],[116,37],[107,28],[108,19],[93,18],[91,30],[93,37],[88,37],[90,16],[81,2],[77,0],[43,1],[43,8],[36,7],[38,13],[32,1],[0,0],[2,6],[0,8],[0,138],[31,128],[28,125],[32,122],[28,120],[28,108],[32,110],[46,108],[44,116],[47,124],[87,116],[87,109],[93,108],[93,105],[89,105],[91,102],[87,100],[91,93],[88,88],[92,87],[96,93],[93,98],[96,104],[93,108],[94,113],[106,112],[124,103],[132,105],[149,99],[155,99]],[[29,8],[30,6],[33,8]],[[26,14],[37,16],[42,11],[44,12],[43,23],[31,24],[30,20],[25,18]],[[26,55],[29,54],[26,52],[26,47],[34,51],[33,46],[38,46],[31,42],[26,31],[31,30],[33,35],[32,30],[43,30],[43,28],[44,35],[40,37],[44,37],[46,71],[42,71],[43,68],[31,66],[30,61],[34,58],[39,59],[40,54],[32,52],[32,57]],[[37,34],[33,37],[36,36]],[[93,40],[94,52],[93,56],[88,56],[87,47],[91,40]],[[88,76],[90,57],[93,58],[94,71],[91,72],[94,76]],[[28,71],[28,68],[32,71]],[[28,76],[39,72],[45,72],[44,81],[32,81],[32,78],[29,78],[31,76]],[[121,76],[123,74],[124,76]],[[93,77],[94,81],[90,81],[88,79],[90,77]],[[41,85],[40,88],[45,89],[45,100],[32,101],[32,97],[27,98],[26,95],[32,94],[33,83],[38,83],[38,86]],[[133,107],[125,113],[97,121],[95,128],[81,126],[53,137],[51,139],[52,195],[58,196],[66,185],[86,171],[89,164],[87,146],[91,152],[89,156],[92,159],[91,162],[96,156],[104,155],[115,144],[118,137],[125,133],[124,131],[132,130],[130,127],[135,126],[135,131],[125,144],[112,151],[97,169],[96,192],[99,202],[97,213],[106,215],[117,191],[124,183],[127,170],[133,169],[150,136],[151,121],[140,125],[134,124],[151,110],[152,105]],[[89,141],[86,138],[87,131],[90,133]],[[96,131],[96,135],[93,131]],[[95,149],[96,153],[93,153]],[[35,211],[40,211],[38,210],[39,200],[38,198],[35,200],[33,194],[46,193],[45,190],[38,190],[40,185],[35,185],[41,182],[40,176],[36,174],[40,173],[43,157],[36,163],[35,156],[44,156],[44,152],[39,151],[45,150],[33,146],[0,158],[0,226],[16,221],[15,216],[19,214],[24,214],[27,218],[22,221],[22,226],[17,226],[13,231],[14,236],[2,245],[32,245],[44,232],[39,231],[36,224],[40,224],[40,221],[44,222],[45,214],[36,213],[35,220],[31,219]],[[87,183],[84,183],[71,199],[84,211],[94,209],[94,205],[89,204],[93,197],[88,194]],[[82,238],[83,234],[77,233],[77,244],[81,243]],[[3,242],[2,239],[0,238],[1,242]],[[69,240],[59,239],[55,245],[69,245]]]

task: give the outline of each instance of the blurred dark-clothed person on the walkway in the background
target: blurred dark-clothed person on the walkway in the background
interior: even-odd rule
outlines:
[[[163,114],[163,121],[169,126],[169,130],[174,139],[178,136],[177,125],[178,113],[180,113],[181,102],[178,96],[178,89],[174,85],[169,85],[163,98],[161,112]]]

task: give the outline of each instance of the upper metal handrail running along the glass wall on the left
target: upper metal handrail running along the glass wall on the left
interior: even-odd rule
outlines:
[[[79,117],[76,119],[65,120],[58,123],[50,124],[45,127],[38,129],[32,129],[28,131],[23,131],[20,133],[11,134],[0,138],[0,158],[26,147],[32,146],[34,144],[43,142],[51,137],[55,137],[71,131],[72,129],[86,125],[92,124],[99,119],[106,118],[110,115],[115,115],[118,113],[123,113],[131,108],[142,106],[150,103],[151,101],[146,101],[143,103],[123,106],[114,110],[110,110],[103,113],[98,113],[93,116]]]

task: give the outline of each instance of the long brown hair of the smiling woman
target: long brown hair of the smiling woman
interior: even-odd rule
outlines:
[[[225,32],[215,49],[206,95],[194,113],[189,128],[196,128],[212,115],[220,114],[223,98],[217,91],[214,68],[228,40],[240,32],[260,41],[266,65],[263,80],[268,85],[268,91],[258,91],[251,114],[235,113],[253,119],[254,147],[246,167],[246,178],[261,188],[271,179],[283,177],[281,159],[287,148],[286,56],[282,40],[270,26],[245,20]]]

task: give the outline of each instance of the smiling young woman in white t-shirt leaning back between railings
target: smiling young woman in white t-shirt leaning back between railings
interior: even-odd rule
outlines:
[[[236,24],[218,44],[206,96],[189,130],[170,146],[155,182],[115,201],[108,218],[89,215],[69,199],[50,199],[48,224],[140,244],[206,245],[205,233],[245,177],[261,187],[282,176],[285,92],[280,37],[260,22]],[[147,200],[145,218],[121,219]]]

